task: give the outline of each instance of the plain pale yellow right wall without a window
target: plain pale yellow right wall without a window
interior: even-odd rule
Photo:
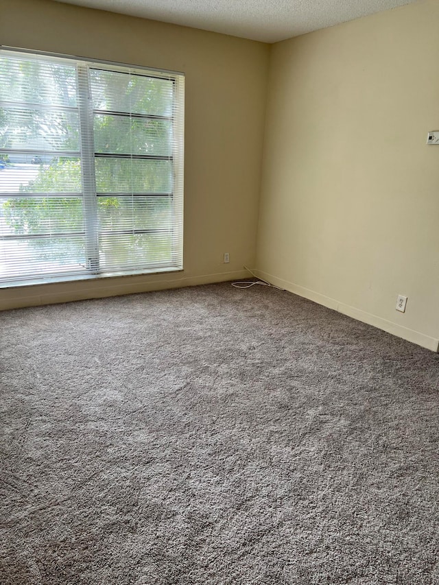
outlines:
[[[421,0],[272,47],[255,265],[434,350],[438,22]]]

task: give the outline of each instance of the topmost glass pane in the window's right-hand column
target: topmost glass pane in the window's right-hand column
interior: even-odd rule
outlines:
[[[174,84],[170,80],[91,69],[90,81],[95,110],[172,115]]]

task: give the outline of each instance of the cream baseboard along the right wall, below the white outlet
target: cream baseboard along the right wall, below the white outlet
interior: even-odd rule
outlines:
[[[283,280],[283,278],[278,278],[273,274],[268,274],[268,272],[263,272],[262,270],[257,269],[252,270],[252,272],[257,274],[259,278],[267,280],[268,283],[276,285],[276,287],[280,287],[289,292],[297,294],[298,296],[302,296],[309,300],[313,300],[314,302],[318,302],[319,305],[324,305],[324,307],[328,307],[329,309],[333,309],[334,311],[348,315],[348,317],[352,317],[358,321],[377,327],[377,329],[382,329],[387,333],[392,333],[392,335],[396,335],[396,337],[402,337],[402,339],[406,339],[408,342],[412,342],[434,352],[439,351],[439,339],[429,337],[429,335],[425,335],[425,333],[414,331],[414,329],[403,327],[402,325],[398,325],[378,317],[377,315],[372,315],[372,313],[367,313],[361,309],[356,309],[350,305],[345,305],[343,302],[339,302],[334,298],[325,296],[305,287],[300,287],[299,285],[290,283],[287,280]]]

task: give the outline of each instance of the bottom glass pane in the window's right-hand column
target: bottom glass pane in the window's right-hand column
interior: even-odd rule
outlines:
[[[143,267],[169,263],[171,260],[171,233],[129,234],[99,237],[99,262],[102,270],[111,267]]]

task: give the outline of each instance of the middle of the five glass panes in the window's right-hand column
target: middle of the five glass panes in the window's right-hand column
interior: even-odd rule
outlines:
[[[170,160],[95,158],[98,193],[171,193]]]

